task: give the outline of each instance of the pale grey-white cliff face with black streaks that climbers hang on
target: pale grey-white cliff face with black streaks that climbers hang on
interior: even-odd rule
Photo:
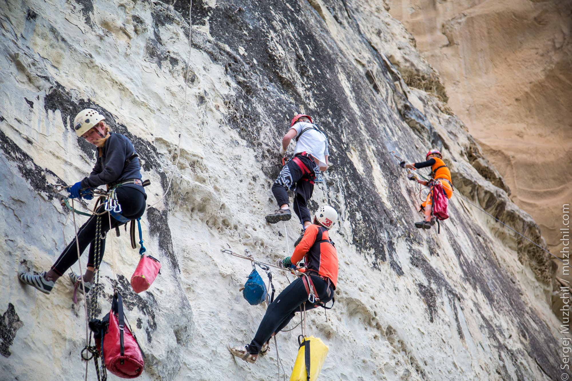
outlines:
[[[251,264],[221,249],[247,249],[268,263],[288,255],[296,221],[268,225],[263,216],[275,208],[280,138],[299,111],[331,144],[312,211],[328,203],[340,215],[331,235],[340,259],[336,304],[307,318],[308,333],[329,345],[320,379],[559,378],[562,334],[546,253],[459,197],[440,234],[412,225],[418,190],[391,152],[420,161],[439,146],[459,196],[544,244],[386,8],[195,1],[189,52],[182,2],[3,2],[2,375],[85,372],[82,297],[73,304],[66,276],[46,296],[16,273],[48,269],[73,238],[73,216],[50,184],[71,184],[92,168],[95,151],[70,126],[89,106],[130,138],[152,181],[142,222],[161,275],[134,293],[138,256],[125,233],[110,232],[99,303],[89,305],[101,317],[117,284],[146,355],[142,379],[277,377],[273,344],[254,365],[227,351],[227,342],[252,339],[265,305],[249,305],[239,291]],[[275,272],[279,291],[288,281]],[[277,335],[287,373],[298,330]],[[88,369],[95,379],[92,363]]]

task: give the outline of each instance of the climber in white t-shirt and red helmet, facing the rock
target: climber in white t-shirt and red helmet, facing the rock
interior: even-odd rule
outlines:
[[[295,189],[293,202],[294,212],[305,227],[312,224],[307,207],[312,197],[314,181],[320,170],[328,168],[328,138],[321,132],[308,115],[297,114],[290,125],[288,133],[282,139],[280,154],[284,156],[288,144],[296,140],[294,156],[288,160],[280,172],[280,176],[272,185],[272,193],[279,205],[266,220],[271,224],[288,221],[292,217],[289,209],[288,189]]]

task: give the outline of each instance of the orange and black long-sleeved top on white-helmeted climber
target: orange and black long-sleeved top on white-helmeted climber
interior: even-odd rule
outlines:
[[[328,229],[312,224],[304,231],[304,237],[294,249],[291,261],[297,264],[304,258],[306,273],[315,272],[329,278],[336,288],[337,254],[328,236]],[[308,272],[309,271],[309,272]]]

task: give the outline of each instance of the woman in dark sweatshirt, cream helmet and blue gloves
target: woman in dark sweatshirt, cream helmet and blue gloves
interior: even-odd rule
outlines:
[[[112,215],[110,217],[108,213],[105,213],[105,205],[100,205],[97,209],[98,215],[94,214],[89,217],[88,221],[77,231],[77,243],[74,238],[48,272],[29,274],[21,271],[18,273],[18,278],[23,283],[33,285],[43,293],[50,293],[55,281],[76,263],[77,248],[80,248],[81,255],[88,245],[90,249],[85,275],[82,278],[72,271],[69,276],[74,283],[74,290],[89,292],[93,287],[94,272],[100,267],[103,259],[105,233],[112,227],[124,223],[120,220],[136,220],[145,212],[147,196],[142,186],[141,168],[135,148],[127,137],[110,132],[104,120],[105,117],[93,109],[85,109],[77,114],[74,121],[77,136],[84,137],[85,140],[97,146],[98,158],[92,173],[67,190],[72,199],[91,200],[93,188],[108,185],[108,190],[115,189],[122,211],[118,215],[110,212]]]

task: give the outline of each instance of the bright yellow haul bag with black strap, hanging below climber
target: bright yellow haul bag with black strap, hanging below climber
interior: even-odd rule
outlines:
[[[300,338],[302,341],[300,342]],[[290,376],[290,381],[316,381],[328,355],[328,346],[320,338],[298,336],[298,356]],[[308,374],[309,370],[309,376]]]

